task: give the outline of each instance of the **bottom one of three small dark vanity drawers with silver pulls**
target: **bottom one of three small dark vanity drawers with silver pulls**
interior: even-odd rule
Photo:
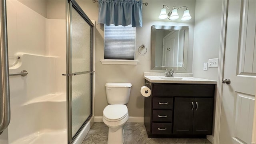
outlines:
[[[172,123],[152,123],[152,134],[171,134]]]

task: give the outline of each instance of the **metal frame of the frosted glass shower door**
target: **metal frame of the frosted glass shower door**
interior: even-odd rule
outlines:
[[[91,31],[91,44],[90,44],[90,116],[85,120],[80,129],[72,138],[72,64],[71,64],[71,9],[72,7],[80,14],[80,16],[90,25]],[[92,117],[92,87],[93,87],[93,28],[94,24],[90,21],[88,16],[84,13],[82,8],[76,3],[75,0],[66,0],[66,81],[67,81],[67,143],[71,144],[78,134],[81,132],[82,128]]]

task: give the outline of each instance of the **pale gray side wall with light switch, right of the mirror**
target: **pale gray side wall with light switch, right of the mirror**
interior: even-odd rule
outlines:
[[[219,57],[221,17],[221,0],[196,0],[192,70],[194,77],[217,80],[218,68],[208,68],[208,71],[203,68],[208,59]]]

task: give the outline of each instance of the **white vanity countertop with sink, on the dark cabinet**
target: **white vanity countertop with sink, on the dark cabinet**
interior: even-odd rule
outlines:
[[[174,78],[166,78],[165,76],[159,76],[159,73],[156,74],[158,76],[152,76],[152,75],[154,74],[144,74],[144,79],[152,83],[217,84],[216,80],[207,80],[203,78],[184,77],[184,76],[175,76],[175,75],[174,75]]]

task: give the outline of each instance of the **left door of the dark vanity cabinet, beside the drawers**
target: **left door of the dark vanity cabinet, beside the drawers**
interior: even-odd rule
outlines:
[[[192,134],[194,98],[174,99],[174,134]]]

